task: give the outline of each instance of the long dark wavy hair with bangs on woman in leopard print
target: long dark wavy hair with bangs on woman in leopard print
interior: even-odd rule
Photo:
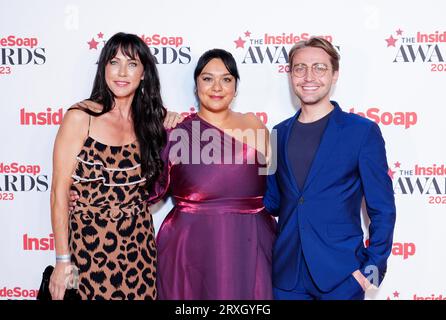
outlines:
[[[145,177],[146,187],[151,188],[163,170],[160,153],[166,144],[166,131],[163,121],[166,109],[161,98],[161,86],[155,58],[147,45],[134,34],[119,32],[105,44],[98,61],[98,69],[89,100],[103,106],[101,112],[94,112],[80,107],[92,116],[100,116],[115,106],[115,95],[105,81],[105,66],[112,60],[118,50],[131,58],[139,58],[144,66],[144,79],[141,80],[132,101],[132,119],[135,135],[141,155],[141,174]]]

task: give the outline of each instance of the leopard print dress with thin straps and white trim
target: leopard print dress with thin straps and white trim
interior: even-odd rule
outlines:
[[[156,299],[156,248],[137,143],[90,136],[77,156],[69,246],[83,299]]]

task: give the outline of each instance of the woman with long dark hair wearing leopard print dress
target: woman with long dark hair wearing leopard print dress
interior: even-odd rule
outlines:
[[[136,35],[115,34],[102,49],[90,98],[69,109],[54,144],[53,299],[63,298],[68,280],[83,299],[157,297],[145,200],[163,170],[165,116],[149,48]],[[70,188],[80,199],[68,214]]]

